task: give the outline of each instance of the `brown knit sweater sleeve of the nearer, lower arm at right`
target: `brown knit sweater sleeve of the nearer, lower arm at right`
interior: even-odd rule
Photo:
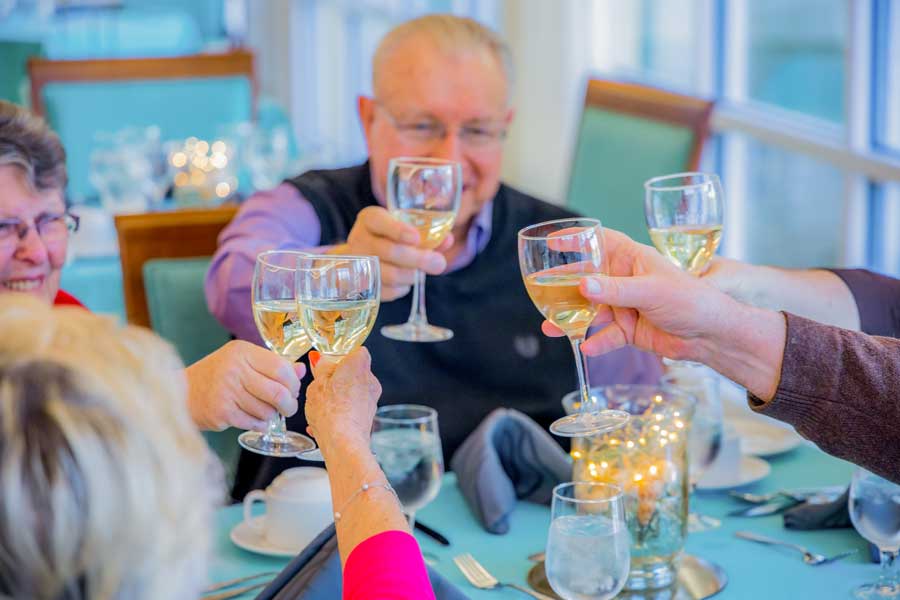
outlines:
[[[781,381],[753,410],[822,450],[900,482],[900,340],[789,313]]]

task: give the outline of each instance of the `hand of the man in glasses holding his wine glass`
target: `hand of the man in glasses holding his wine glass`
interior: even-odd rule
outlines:
[[[347,243],[335,246],[336,254],[377,256],[381,262],[381,298],[402,298],[415,281],[416,269],[439,275],[447,268],[441,251],[453,245],[453,235],[434,250],[419,247],[419,232],[401,223],[381,206],[362,209],[356,217]]]

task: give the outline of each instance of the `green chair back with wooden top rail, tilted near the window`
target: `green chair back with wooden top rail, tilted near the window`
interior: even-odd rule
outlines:
[[[567,205],[650,243],[646,180],[695,170],[712,102],[640,85],[588,82]]]

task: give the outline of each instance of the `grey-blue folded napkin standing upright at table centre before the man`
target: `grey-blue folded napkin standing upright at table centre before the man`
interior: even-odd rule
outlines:
[[[565,450],[525,414],[498,408],[450,461],[469,508],[490,533],[509,531],[518,500],[550,502],[553,486],[572,479]]]

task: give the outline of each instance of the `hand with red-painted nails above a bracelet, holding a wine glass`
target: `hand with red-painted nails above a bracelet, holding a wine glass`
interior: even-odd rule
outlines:
[[[323,357],[313,367],[314,381],[306,391],[306,421],[319,445],[349,436],[368,446],[381,396],[381,384],[372,375],[371,357],[357,348],[340,362]]]

